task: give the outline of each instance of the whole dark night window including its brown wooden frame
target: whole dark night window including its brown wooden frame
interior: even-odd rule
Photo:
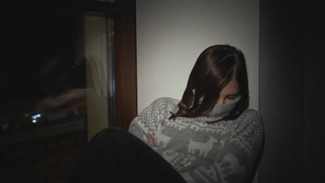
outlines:
[[[0,141],[72,124],[91,138],[108,126],[127,129],[135,117],[135,2],[81,2],[10,14]]]

